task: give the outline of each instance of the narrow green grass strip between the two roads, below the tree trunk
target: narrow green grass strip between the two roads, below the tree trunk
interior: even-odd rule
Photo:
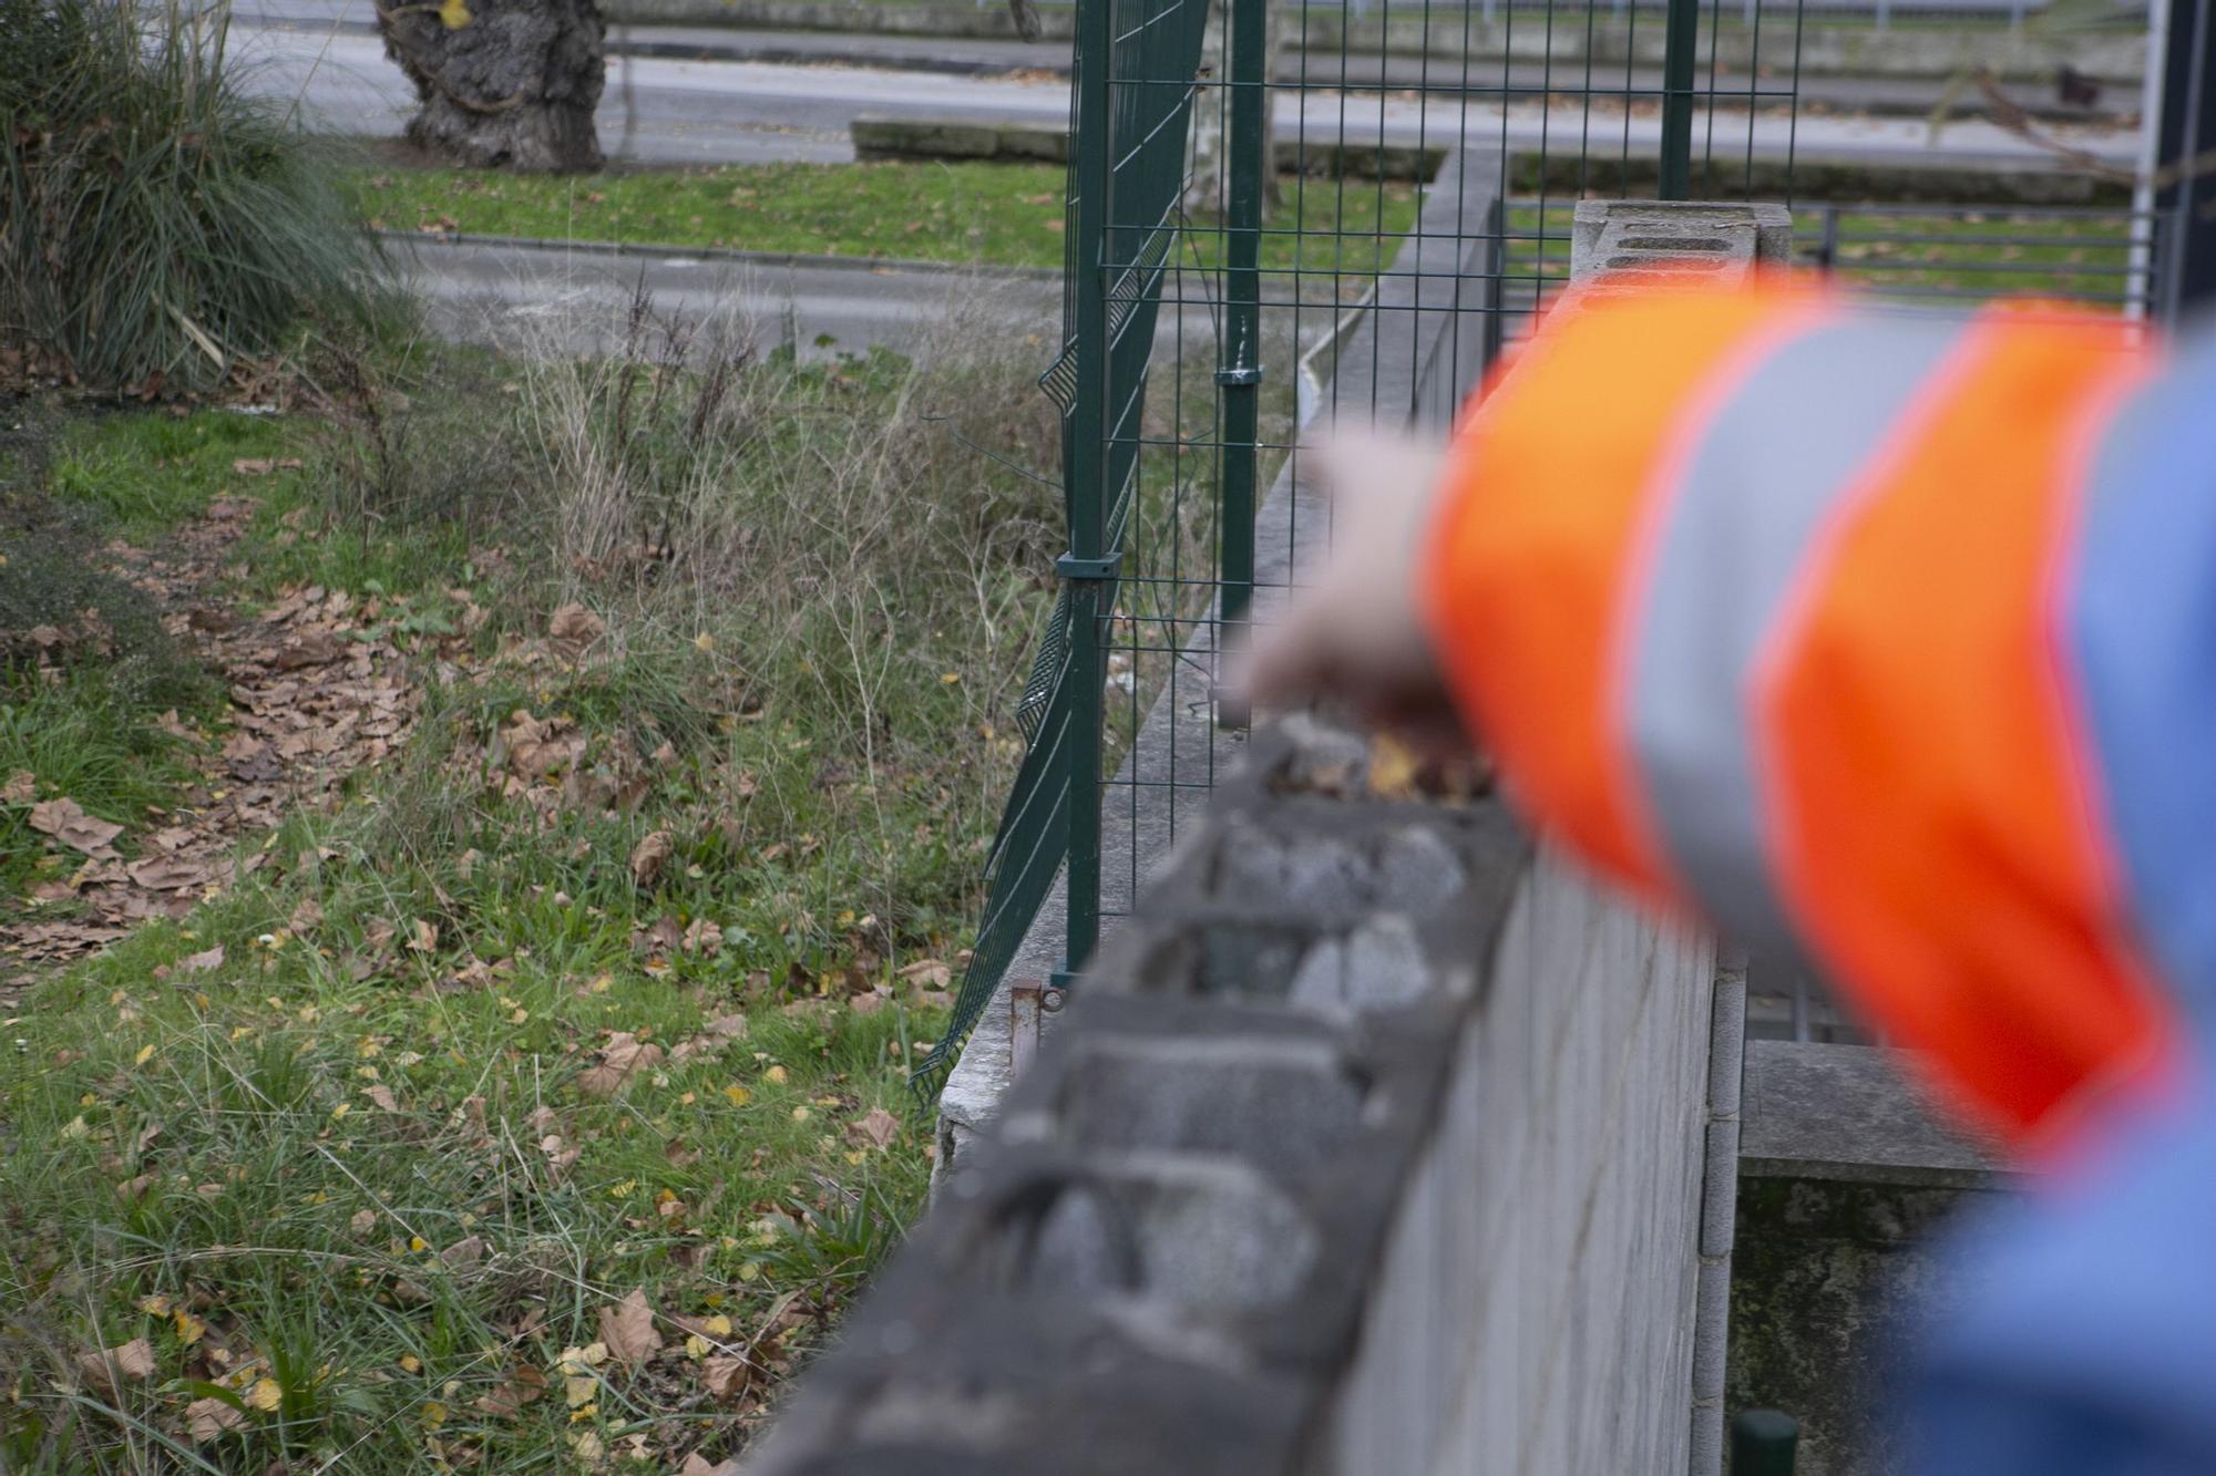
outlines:
[[[372,224],[394,230],[572,237],[654,246],[1061,266],[1059,164],[745,164],[587,177],[463,168],[357,171]],[[1285,182],[1290,217],[1263,237],[1263,266],[1374,270],[1416,224],[1416,188],[1374,180]],[[1217,259],[1192,233],[1190,255]]]

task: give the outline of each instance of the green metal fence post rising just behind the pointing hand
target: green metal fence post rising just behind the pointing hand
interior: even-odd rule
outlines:
[[[1223,339],[1217,383],[1223,397],[1223,521],[1217,585],[1223,634],[1245,621],[1254,598],[1254,461],[1261,423],[1261,208],[1270,168],[1263,160],[1270,106],[1270,0],[1219,0],[1230,7],[1230,199],[1223,211]]]

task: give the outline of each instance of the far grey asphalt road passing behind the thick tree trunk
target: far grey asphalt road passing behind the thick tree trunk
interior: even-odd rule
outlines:
[[[250,0],[253,2],[253,0]],[[306,0],[261,0],[264,4]],[[335,4],[337,0],[321,0]],[[368,4],[368,0],[350,0]],[[246,86],[297,104],[312,126],[386,137],[410,113],[410,89],[375,35],[343,20],[324,24],[250,24],[244,13],[233,47],[246,60]],[[1587,115],[1578,106],[1542,106],[1476,98],[1432,98],[1429,104],[1385,95],[1276,95],[1279,137],[1347,137],[1350,142],[1451,142],[1485,148],[1591,148],[1615,153],[1655,146],[1653,109]],[[853,157],[847,124],[858,113],[897,117],[993,117],[1033,124],[1068,122],[1068,84],[1059,78],[973,78],[884,71],[873,66],[789,66],[773,62],[700,62],[618,58],[601,104],[601,142],[612,157],[647,164],[747,164],[767,160],[842,162]],[[1706,124],[1702,122],[1702,129]],[[2056,124],[2056,135],[2110,162],[2130,166],[2134,135],[2118,129]],[[1988,122],[1959,122],[1932,137],[1921,120],[1731,115],[1715,120],[1717,157],[1748,146],[1757,157],[1881,164],[1948,164],[2023,168],[2043,151]]]

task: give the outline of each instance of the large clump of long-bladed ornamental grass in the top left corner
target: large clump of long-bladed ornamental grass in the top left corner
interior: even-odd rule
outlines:
[[[0,0],[0,377],[199,392],[368,306],[372,239],[235,73],[224,4]]]

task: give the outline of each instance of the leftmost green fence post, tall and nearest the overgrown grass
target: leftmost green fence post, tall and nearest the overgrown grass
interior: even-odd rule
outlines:
[[[1108,137],[1108,82],[1115,69],[1115,0],[1077,0],[1077,394],[1070,406],[1064,474],[1068,479],[1070,552],[1057,563],[1070,592],[1070,740],[1068,740],[1068,931],[1064,975],[1092,955],[1101,931],[1101,594],[1108,563],[1108,257],[1112,155]]]

